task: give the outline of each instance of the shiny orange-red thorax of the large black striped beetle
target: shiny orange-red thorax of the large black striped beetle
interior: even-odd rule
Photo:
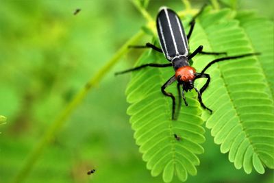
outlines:
[[[196,71],[192,66],[182,66],[175,71],[175,77],[182,82],[190,82],[194,80]]]

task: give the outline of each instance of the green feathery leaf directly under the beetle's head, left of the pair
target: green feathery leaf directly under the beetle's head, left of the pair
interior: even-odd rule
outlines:
[[[136,65],[148,62],[166,60],[160,53],[147,51]],[[205,141],[201,110],[193,93],[186,95],[189,106],[182,106],[179,119],[171,120],[171,99],[162,95],[160,88],[173,72],[173,68],[148,68],[134,72],[126,91],[127,101],[132,103],[127,113],[132,116],[130,123],[142,158],[147,162],[151,175],[163,172],[164,182],[171,182],[174,174],[182,181],[186,180],[187,172],[196,175],[195,166],[199,165],[196,154],[203,153],[199,144]],[[169,88],[174,94],[175,86]],[[182,139],[177,141],[174,134]]]

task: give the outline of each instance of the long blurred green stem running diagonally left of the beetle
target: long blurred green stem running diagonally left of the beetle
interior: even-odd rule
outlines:
[[[49,143],[51,143],[51,140],[58,134],[64,123],[66,122],[66,119],[71,116],[71,113],[79,103],[82,102],[84,97],[86,97],[87,93],[90,91],[91,88],[96,86],[103,77],[112,69],[114,64],[116,64],[119,59],[128,52],[128,45],[134,45],[140,38],[144,35],[144,32],[140,31],[136,35],[134,35],[132,38],[130,38],[125,44],[119,49],[119,51],[116,52],[116,54],[103,66],[82,88],[82,90],[79,90],[79,93],[75,95],[75,97],[71,100],[71,102],[66,106],[66,108],[60,113],[60,115],[51,123],[47,131],[45,132],[44,136],[42,136],[41,141],[38,143],[38,145],[35,147],[35,149],[32,151],[32,153],[29,155],[29,158],[27,158],[25,164],[23,164],[22,169],[18,172],[16,177],[14,178],[13,182],[23,182],[29,172],[34,167],[35,162],[38,160],[39,156],[42,154],[43,150]]]

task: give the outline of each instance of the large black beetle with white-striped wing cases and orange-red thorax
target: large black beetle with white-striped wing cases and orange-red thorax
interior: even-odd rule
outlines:
[[[190,39],[190,36],[192,34],[192,31],[195,27],[195,19],[197,16],[199,16],[203,9],[206,7],[206,5],[203,5],[203,8],[195,15],[193,16],[192,20],[190,21],[190,29],[188,34],[186,35],[184,31],[184,26],[182,25],[182,21],[179,19],[179,16],[171,9],[162,7],[160,8],[158,12],[158,16],[156,19],[157,24],[157,31],[158,31],[158,37],[160,40],[160,46],[161,48],[147,42],[144,46],[131,46],[134,48],[151,48],[155,51],[158,51],[160,53],[164,53],[164,56],[166,57],[166,60],[168,60],[170,63],[167,64],[156,64],[156,63],[149,63],[149,64],[143,64],[140,66],[137,66],[133,69],[128,69],[125,71],[121,71],[118,73],[115,73],[115,75],[128,73],[131,71],[137,71],[139,69],[143,69],[147,66],[151,67],[168,67],[173,66],[173,69],[175,71],[175,75],[173,75],[169,80],[166,81],[161,87],[161,91],[164,95],[167,97],[171,97],[172,99],[172,119],[177,119],[179,115],[179,109],[182,105],[182,98],[184,99],[184,103],[186,106],[188,106],[188,103],[186,101],[186,97],[184,96],[184,92],[188,92],[192,90],[193,88],[198,94],[198,100],[201,104],[201,107],[205,110],[208,110],[210,113],[212,113],[212,110],[205,106],[202,100],[202,94],[208,88],[208,85],[210,84],[210,75],[205,73],[206,70],[212,66],[212,64],[216,62],[221,62],[224,60],[232,60],[237,58],[243,58],[247,56],[254,56],[258,55],[260,53],[246,53],[239,56],[227,56],[223,58],[218,58],[216,60],[212,60],[211,62],[206,65],[206,67],[198,73],[195,68],[190,66],[188,60],[192,59],[194,56],[196,56],[198,53],[203,55],[221,55],[226,54],[225,52],[206,52],[203,51],[203,46],[200,45],[195,51],[190,53],[188,41]],[[194,86],[195,80],[199,78],[206,78],[206,84],[204,84],[200,90],[198,90]],[[175,97],[172,93],[166,92],[166,87],[173,84],[173,82],[177,81],[177,92],[179,93],[179,103],[177,106],[177,112],[175,112]],[[181,88],[182,88],[182,95],[181,95]]]

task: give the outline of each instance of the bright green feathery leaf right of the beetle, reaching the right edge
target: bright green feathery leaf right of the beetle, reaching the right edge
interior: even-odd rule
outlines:
[[[255,16],[248,19],[241,16],[240,25],[245,25],[242,29],[236,19],[228,18],[229,14],[227,10],[204,14],[195,27],[190,46],[203,45],[205,51],[227,51],[229,56],[253,52],[262,56],[219,62],[208,69],[212,82],[203,101],[214,112],[206,126],[212,129],[221,152],[229,152],[229,161],[234,162],[236,169],[243,167],[246,173],[251,173],[254,167],[258,173],[264,173],[264,166],[274,167],[273,32],[269,31],[271,26],[265,27],[270,25],[265,19],[256,21]],[[193,58],[197,71],[208,63],[203,58]]]

